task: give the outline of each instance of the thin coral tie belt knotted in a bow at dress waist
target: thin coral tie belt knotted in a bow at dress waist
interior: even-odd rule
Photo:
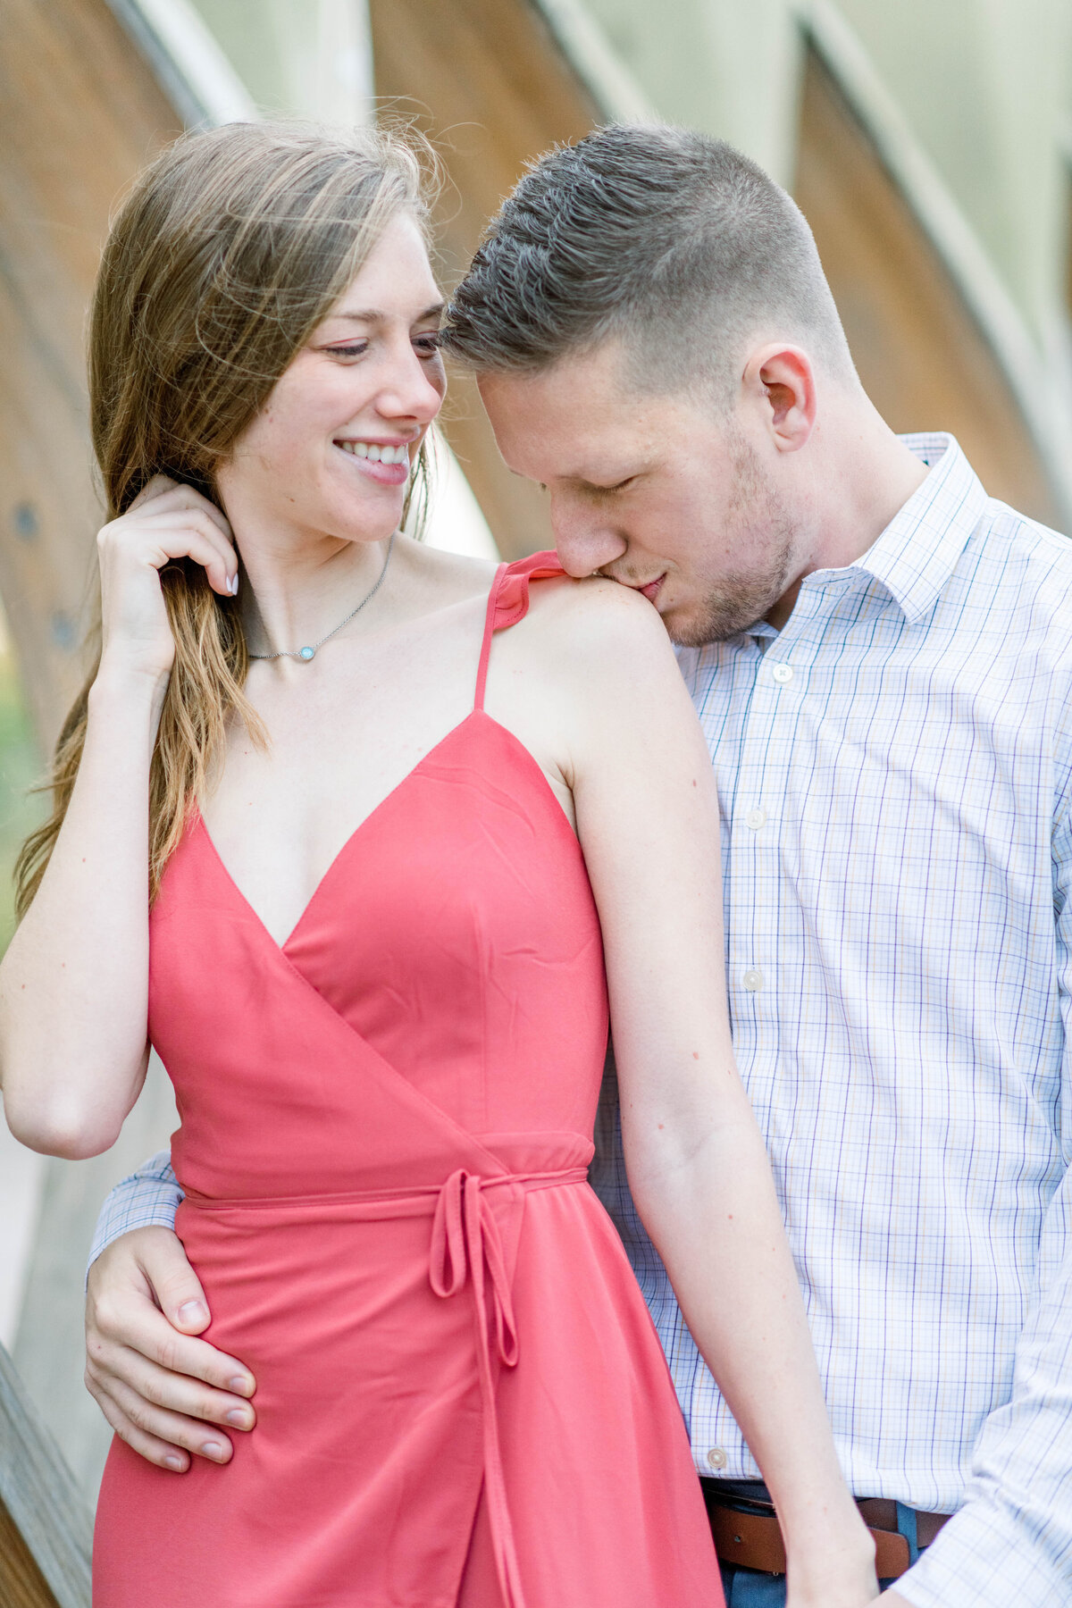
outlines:
[[[484,1192],[495,1185],[521,1183],[522,1188],[553,1188],[558,1183],[583,1183],[585,1167],[564,1172],[511,1172],[482,1179],[460,1167],[452,1172],[439,1192],[432,1217],[432,1243],[429,1282],[437,1296],[448,1299],[466,1285],[473,1288],[476,1307],[477,1375],[481,1383],[481,1409],[484,1418],[484,1491],[495,1549],[495,1568],[506,1608],[526,1608],[514,1531],[506,1503],[503,1455],[498,1441],[498,1417],[495,1412],[495,1375],[489,1339],[489,1298],[495,1319],[495,1348],[500,1362],[513,1368],[518,1364],[518,1327],[514,1304],[506,1274],[503,1238],[498,1222]]]

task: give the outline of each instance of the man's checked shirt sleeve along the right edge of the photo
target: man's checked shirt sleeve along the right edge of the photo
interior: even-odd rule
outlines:
[[[1038,1246],[1038,1288],[1008,1402],[976,1441],[964,1507],[897,1581],[914,1608],[1062,1608],[1072,1602],[1072,828],[1053,839],[1056,962],[1064,1021],[1062,1174]]]

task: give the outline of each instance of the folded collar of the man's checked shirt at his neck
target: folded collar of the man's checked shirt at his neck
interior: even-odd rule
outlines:
[[[850,568],[881,580],[914,622],[939,601],[988,498],[953,436],[934,431],[900,441],[931,473]]]

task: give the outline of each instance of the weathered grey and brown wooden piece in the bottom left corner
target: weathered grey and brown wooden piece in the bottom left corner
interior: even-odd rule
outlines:
[[[0,1605],[90,1608],[90,1515],[0,1346]]]

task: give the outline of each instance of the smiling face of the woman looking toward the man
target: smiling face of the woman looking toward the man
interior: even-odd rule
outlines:
[[[395,529],[447,389],[440,312],[421,232],[402,214],[219,471],[239,542],[374,542]]]

